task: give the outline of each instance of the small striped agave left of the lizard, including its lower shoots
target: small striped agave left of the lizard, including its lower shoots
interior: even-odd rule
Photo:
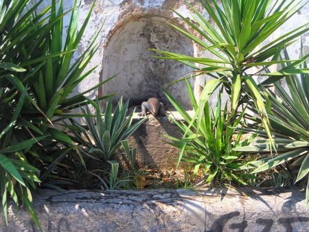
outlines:
[[[91,170],[88,173],[97,177],[106,189],[115,189],[128,182],[127,179],[117,180],[119,163],[115,161],[115,158],[118,154],[122,153],[119,152],[119,148],[123,146],[134,168],[136,148],[130,149],[127,139],[147,118],[145,117],[133,124],[133,114],[135,111],[127,116],[129,101],[124,104],[122,98],[119,100],[114,112],[112,111],[111,99],[109,99],[106,103],[104,115],[102,115],[98,100],[96,102],[93,100],[88,101],[95,108],[96,114],[92,115],[91,109],[87,105],[85,108],[82,108],[85,125],[83,126],[78,121],[71,119],[71,125],[66,126],[70,129],[73,135],[72,139],[78,143],[82,153],[86,154],[90,159],[99,161],[102,165],[104,163],[111,165],[109,185],[104,176],[102,178],[100,174],[95,173],[104,172],[107,174],[106,170]],[[85,166],[88,170],[87,165]]]

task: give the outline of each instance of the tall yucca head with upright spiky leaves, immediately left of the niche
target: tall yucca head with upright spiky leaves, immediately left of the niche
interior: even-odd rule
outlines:
[[[61,139],[61,137],[64,137],[64,134],[59,130],[55,132],[49,129],[50,125],[58,121],[59,117],[78,117],[79,114],[74,113],[72,110],[87,104],[87,99],[84,95],[98,89],[102,84],[111,79],[109,78],[104,82],[91,86],[83,93],[71,94],[76,86],[96,68],[93,67],[89,71],[85,71],[95,51],[98,49],[98,45],[95,42],[103,25],[93,36],[93,40],[91,40],[87,49],[76,60],[73,59],[73,54],[78,48],[82,35],[86,30],[94,5],[95,2],[93,2],[85,21],[79,25],[80,1],[74,1],[73,8],[69,12],[63,12],[63,0],[58,2],[52,0],[50,15],[45,19],[47,25],[52,26],[46,28],[48,36],[44,38],[43,43],[38,44],[36,52],[32,54],[32,56],[38,57],[37,59],[44,58],[44,62],[37,64],[31,61],[32,47],[26,47],[21,50],[24,57],[21,65],[28,70],[37,69],[37,71],[31,78],[25,78],[21,74],[19,75],[19,80],[23,80],[23,83],[29,83],[34,102],[38,104],[38,107],[45,115],[43,117],[42,113],[30,106],[23,109],[23,117],[34,121],[41,131],[47,132],[48,130],[55,137],[54,139]],[[67,32],[63,24],[63,16],[66,14],[71,14]],[[62,40],[64,33],[66,37],[65,40]],[[55,54],[58,54],[58,56]],[[104,98],[106,96],[99,97],[99,100]]]

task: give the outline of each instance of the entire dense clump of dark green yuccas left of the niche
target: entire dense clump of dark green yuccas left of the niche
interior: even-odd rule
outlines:
[[[98,34],[72,62],[93,6],[78,30],[78,1],[73,9],[63,12],[63,1],[52,0],[52,5],[37,13],[41,3],[42,0],[37,3],[0,1],[1,199],[5,218],[8,196],[11,196],[16,203],[21,199],[30,209],[36,224],[31,190],[37,187],[39,178],[47,180],[65,154],[76,147],[69,136],[59,130],[58,121],[78,116],[72,110],[87,104],[83,95],[104,84],[71,95],[94,69],[84,71],[98,48],[95,45]],[[62,41],[66,33],[63,17],[69,12],[68,33]],[[55,152],[59,142],[65,149]]]

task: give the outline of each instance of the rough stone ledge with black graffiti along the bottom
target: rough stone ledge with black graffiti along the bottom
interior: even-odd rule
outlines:
[[[41,190],[34,207],[43,231],[308,231],[298,189],[222,191]],[[0,231],[38,231],[25,210],[9,207]]]

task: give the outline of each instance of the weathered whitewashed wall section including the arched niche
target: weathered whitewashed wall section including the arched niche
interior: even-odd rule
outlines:
[[[82,0],[80,25],[87,16],[93,0]],[[197,0],[190,1],[196,5]],[[73,0],[64,1],[65,10],[73,5]],[[183,0],[98,0],[86,33],[76,52],[78,57],[93,38],[95,31],[104,23],[98,36],[99,49],[87,69],[98,65],[98,68],[76,89],[85,91],[98,82],[117,73],[119,76],[109,84],[93,91],[91,97],[117,92],[124,97],[164,98],[162,84],[182,78],[190,71],[185,65],[177,62],[162,61],[152,58],[154,53],[149,48],[167,49],[193,56],[196,47],[192,41],[172,30],[168,23],[185,28],[183,22],[172,12],[179,9],[183,14],[190,11]],[[43,1],[41,9],[47,7],[50,0]],[[198,5],[197,5],[198,7]],[[69,16],[64,24],[69,23]],[[183,83],[170,87],[176,97],[189,106],[189,99]],[[165,101],[167,102],[167,101]]]

